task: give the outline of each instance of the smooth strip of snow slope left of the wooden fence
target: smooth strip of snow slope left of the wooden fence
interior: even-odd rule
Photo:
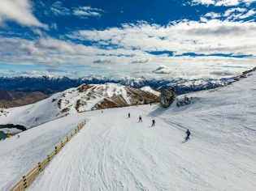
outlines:
[[[10,190],[76,129],[83,118],[68,116],[0,141],[0,190]]]

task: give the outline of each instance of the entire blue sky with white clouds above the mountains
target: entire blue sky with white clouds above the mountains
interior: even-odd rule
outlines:
[[[256,0],[0,0],[0,75],[223,78],[256,65]]]

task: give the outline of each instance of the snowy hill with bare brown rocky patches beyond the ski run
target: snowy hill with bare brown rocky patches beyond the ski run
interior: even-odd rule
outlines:
[[[150,87],[143,91],[116,83],[84,84],[54,94],[36,104],[2,109],[0,124],[18,124],[30,128],[77,112],[155,103],[158,102],[157,92]]]

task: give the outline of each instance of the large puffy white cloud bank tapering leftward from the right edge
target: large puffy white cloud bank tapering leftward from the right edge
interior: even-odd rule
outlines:
[[[93,41],[98,45],[142,51],[255,54],[255,30],[256,23],[212,19],[206,23],[181,21],[167,26],[124,24],[122,28],[107,28],[103,31],[82,30],[71,37]]]

